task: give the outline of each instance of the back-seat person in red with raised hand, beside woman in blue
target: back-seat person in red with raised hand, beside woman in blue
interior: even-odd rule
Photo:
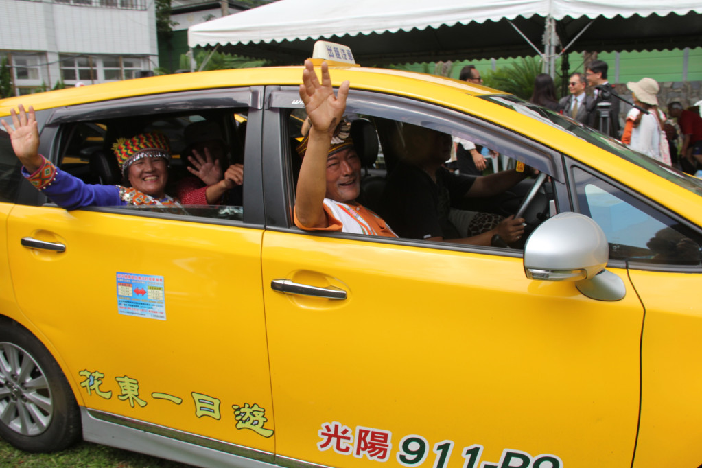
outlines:
[[[178,182],[176,192],[183,205],[232,205],[242,203],[244,165],[225,167],[227,150],[216,122],[198,121],[185,127],[185,150],[194,177]]]

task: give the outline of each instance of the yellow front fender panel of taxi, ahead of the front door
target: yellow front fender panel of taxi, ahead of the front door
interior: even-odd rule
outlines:
[[[689,402],[702,394],[702,307],[682,298],[698,290],[699,276],[673,273],[661,281],[656,272],[632,270],[630,277],[647,306],[636,460],[644,466],[694,466],[699,463],[694,447],[702,436],[702,406]],[[664,445],[657,446],[661,441]]]

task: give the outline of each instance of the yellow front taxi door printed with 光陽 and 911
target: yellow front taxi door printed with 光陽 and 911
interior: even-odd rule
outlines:
[[[276,132],[294,100],[294,91],[267,98],[269,167],[291,166],[275,145],[289,146]],[[487,122],[361,91],[347,112],[491,140],[567,194],[556,154]],[[291,200],[292,180],[266,178],[267,200]],[[527,279],[520,250],[310,234],[291,227],[291,209],[267,204],[277,229],[262,253],[279,457],[338,467],[630,464],[643,311],[625,269],[611,269],[623,300],[602,302],[574,283]]]

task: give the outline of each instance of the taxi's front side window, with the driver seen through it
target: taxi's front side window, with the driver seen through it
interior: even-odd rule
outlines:
[[[274,105],[285,101],[283,96],[273,97]],[[286,166],[292,169],[294,187],[302,159],[297,152],[298,128],[291,115],[292,111],[286,114],[290,145],[285,152],[291,154]],[[425,103],[377,95],[366,100],[358,92],[347,100],[344,117],[350,122],[350,135],[361,166],[359,194],[355,200],[380,215],[401,239],[430,241],[441,248],[453,244],[456,248],[467,245],[469,242],[465,239],[480,236],[480,239],[472,239],[470,245],[497,247],[503,251],[509,246],[512,247],[510,253],[517,253],[529,232],[548,218],[551,207],[555,206],[551,203],[555,201],[552,184],[559,174],[553,170],[554,159],[519,135],[472,116]],[[361,130],[355,131],[356,128]],[[357,135],[362,135],[362,140],[357,140]],[[425,144],[420,145],[422,142]],[[468,147],[471,142],[484,156],[485,174],[508,172],[498,178],[500,181],[509,179],[508,183],[495,182],[496,187],[503,189],[466,196],[475,176],[461,173],[463,168],[458,167],[456,152],[459,145],[464,143]],[[423,151],[427,147],[437,147],[438,152]],[[423,169],[423,161],[430,153],[432,166],[438,157],[444,158],[443,163],[439,163],[443,167],[437,168],[441,177],[433,182],[429,172]],[[460,157],[472,156],[462,151]],[[529,168],[524,168],[523,163],[527,161],[556,177],[539,187],[530,209],[523,216],[527,219],[524,234],[517,234],[517,239],[509,243],[494,239],[493,232],[482,236],[494,231],[519,210],[536,181],[529,177]],[[517,166],[527,172],[513,177]]]

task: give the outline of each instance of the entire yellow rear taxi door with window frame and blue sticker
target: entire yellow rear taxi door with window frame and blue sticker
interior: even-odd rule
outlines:
[[[258,96],[247,88],[98,103],[56,111],[42,132],[41,150],[52,156],[62,128],[86,116],[158,114],[183,110],[183,102],[249,108],[243,215],[226,215],[236,207],[203,208],[212,217],[188,207],[13,208],[8,255],[17,302],[60,350],[84,422],[272,457]],[[91,432],[86,439],[131,447]]]

